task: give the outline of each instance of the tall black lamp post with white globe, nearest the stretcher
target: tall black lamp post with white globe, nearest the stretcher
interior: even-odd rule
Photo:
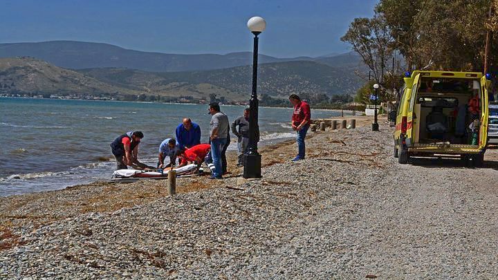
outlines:
[[[258,106],[257,99],[257,55],[258,35],[266,28],[266,21],[261,17],[251,17],[248,28],[254,37],[254,49],[252,51],[252,94],[249,102],[249,143],[248,149],[243,156],[243,178],[261,178],[261,155],[257,151],[257,127]]]

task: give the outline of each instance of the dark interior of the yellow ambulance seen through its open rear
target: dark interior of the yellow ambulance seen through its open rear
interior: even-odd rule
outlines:
[[[474,144],[481,112],[479,80],[422,77],[414,104],[414,142]],[[477,120],[477,122],[474,122]]]

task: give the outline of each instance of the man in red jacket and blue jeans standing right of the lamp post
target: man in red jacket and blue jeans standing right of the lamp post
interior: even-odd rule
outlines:
[[[297,156],[293,158],[293,161],[304,160],[306,153],[306,146],[304,144],[304,138],[306,138],[306,133],[311,122],[311,109],[308,103],[304,102],[295,94],[289,96],[289,100],[294,105],[294,113],[292,117],[292,127],[297,133]]]

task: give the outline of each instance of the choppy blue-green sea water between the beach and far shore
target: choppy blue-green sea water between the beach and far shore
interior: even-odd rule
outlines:
[[[244,108],[221,106],[221,111],[232,122]],[[339,114],[312,109],[312,118]],[[259,145],[294,138],[291,115],[291,108],[260,107]],[[156,166],[160,142],[174,137],[183,118],[199,124],[201,142],[208,142],[211,116],[203,104],[0,97],[0,196],[111,178],[116,163],[109,144],[127,131],[144,133],[138,158]]]

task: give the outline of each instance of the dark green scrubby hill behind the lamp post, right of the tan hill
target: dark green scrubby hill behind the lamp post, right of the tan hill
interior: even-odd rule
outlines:
[[[212,84],[247,98],[252,86],[252,66],[176,73],[149,73],[124,68],[91,68],[79,72],[115,86],[131,89],[140,86],[153,91],[171,84]],[[353,93],[361,85],[359,78],[349,70],[318,62],[278,62],[261,64],[258,68],[259,93],[273,97],[287,97],[290,93]]]

